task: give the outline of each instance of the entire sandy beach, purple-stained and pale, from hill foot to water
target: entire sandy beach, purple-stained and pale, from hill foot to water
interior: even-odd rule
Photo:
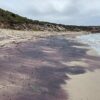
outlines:
[[[12,41],[0,46],[1,100],[100,99],[100,57],[72,38],[75,33],[11,33],[0,41]]]

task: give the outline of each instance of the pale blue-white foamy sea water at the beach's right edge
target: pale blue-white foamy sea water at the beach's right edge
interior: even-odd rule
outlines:
[[[79,41],[88,44],[100,55],[100,33],[88,34],[76,37]]]

